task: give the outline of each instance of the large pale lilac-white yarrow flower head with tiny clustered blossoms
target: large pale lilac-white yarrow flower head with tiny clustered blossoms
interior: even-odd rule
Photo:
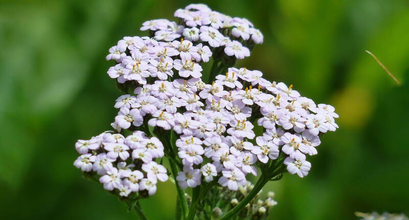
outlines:
[[[141,30],[151,30],[153,38],[124,37],[109,49],[106,58],[116,65],[108,75],[133,94],[116,100],[119,113],[111,125],[118,134],[76,143],[81,156],[75,166],[97,172],[104,188],[118,189],[121,196],[144,190],[151,195],[158,181],[168,180],[157,163],[164,150],[178,163],[181,188],[214,181],[237,190],[247,174],[258,174],[257,165],[279,156],[288,172],[307,175],[306,156],[317,153],[322,134],[337,128],[334,108],[315,104],[292,85],[270,82],[257,70],[231,67],[207,84],[202,63],[249,56],[243,44],[251,47],[263,36],[248,20],[205,5],[189,5],[175,16],[181,25],[146,21]],[[263,129],[259,137],[257,125]],[[133,134],[124,137],[125,130]],[[172,133],[176,138],[169,145]]]

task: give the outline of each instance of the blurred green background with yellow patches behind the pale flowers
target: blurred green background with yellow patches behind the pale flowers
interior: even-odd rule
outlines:
[[[0,213],[2,219],[136,219],[73,166],[74,143],[110,129],[121,95],[106,71],[109,47],[145,35],[191,1],[0,2]],[[409,214],[409,2],[202,1],[246,17],[264,44],[238,67],[294,84],[336,107],[312,170],[269,183],[271,219],[356,219],[354,211]],[[398,86],[370,57],[401,80]],[[267,191],[265,190],[265,191]],[[175,190],[161,183],[142,206],[172,219]]]

